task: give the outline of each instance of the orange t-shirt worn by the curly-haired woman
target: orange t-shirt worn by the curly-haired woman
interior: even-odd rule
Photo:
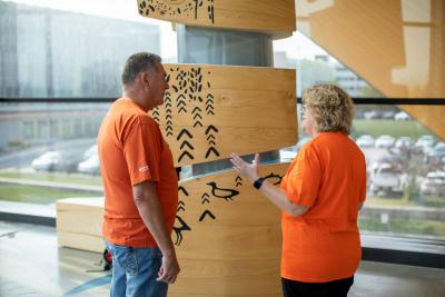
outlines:
[[[281,277],[325,283],[352,277],[362,257],[358,206],[366,198],[366,162],[342,132],[322,132],[291,162],[281,188],[289,201],[309,207],[283,212]]]

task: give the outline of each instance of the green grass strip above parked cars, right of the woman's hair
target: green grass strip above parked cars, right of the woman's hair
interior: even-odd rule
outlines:
[[[353,122],[352,136],[357,138],[360,135],[370,135],[374,138],[380,135],[390,135],[396,139],[402,136],[409,136],[413,140],[417,140],[421,136],[431,135],[431,132],[414,120],[355,119]]]

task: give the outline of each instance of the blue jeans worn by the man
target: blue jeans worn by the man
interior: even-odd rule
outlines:
[[[110,297],[167,296],[168,285],[156,280],[162,263],[159,248],[106,245],[112,255]]]

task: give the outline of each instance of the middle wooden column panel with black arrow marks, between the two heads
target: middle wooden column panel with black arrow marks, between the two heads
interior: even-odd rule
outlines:
[[[295,70],[165,65],[170,89],[150,115],[176,166],[268,151],[297,140]]]

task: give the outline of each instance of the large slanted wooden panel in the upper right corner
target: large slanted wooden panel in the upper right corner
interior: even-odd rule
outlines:
[[[445,98],[445,1],[296,3],[298,30],[385,96]],[[445,107],[403,108],[445,139]]]

